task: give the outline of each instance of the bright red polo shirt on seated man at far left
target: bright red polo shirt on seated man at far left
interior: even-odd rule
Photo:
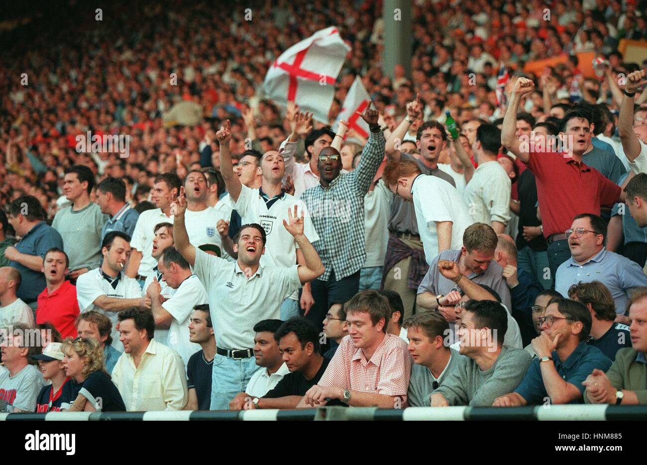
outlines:
[[[50,295],[47,288],[38,296],[36,324],[52,323],[54,328],[65,337],[76,337],[76,317],[79,315],[79,302],[76,299],[76,286],[69,281]]]

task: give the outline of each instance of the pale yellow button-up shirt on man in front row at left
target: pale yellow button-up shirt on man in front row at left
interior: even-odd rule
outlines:
[[[182,357],[155,339],[137,368],[131,354],[122,354],[112,378],[128,411],[181,410],[188,400]]]

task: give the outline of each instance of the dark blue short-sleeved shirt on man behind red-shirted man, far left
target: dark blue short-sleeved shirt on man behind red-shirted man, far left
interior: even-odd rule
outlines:
[[[20,253],[27,255],[39,255],[45,259],[45,253],[52,247],[63,249],[63,239],[61,234],[45,221],[36,223],[32,229],[25,234],[18,244],[16,249]],[[39,293],[45,289],[45,275],[40,271],[34,271],[28,267],[19,264],[18,262],[10,262],[9,266],[16,268],[20,271],[21,278],[23,278],[16,296],[23,299],[26,304],[36,302]]]

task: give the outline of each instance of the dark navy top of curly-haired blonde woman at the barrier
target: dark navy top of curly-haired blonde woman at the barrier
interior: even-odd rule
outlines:
[[[83,383],[70,380],[63,388],[63,403],[70,405],[82,394],[96,411],[125,412],[126,405],[115,383],[102,371],[92,372]]]

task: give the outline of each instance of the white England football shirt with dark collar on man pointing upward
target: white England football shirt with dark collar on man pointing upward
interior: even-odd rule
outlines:
[[[241,193],[234,205],[241,216],[241,224],[258,223],[267,234],[265,254],[261,256],[261,266],[289,267],[296,264],[296,249],[299,248],[299,245],[294,240],[294,236],[283,226],[283,220],[288,221],[288,210],[294,214],[294,205],[296,205],[297,215],[303,213],[303,234],[311,243],[318,241],[319,235],[314,229],[313,219],[305,202],[290,194],[283,194],[268,209],[259,189],[241,186]],[[296,300],[297,295],[298,293],[294,293],[291,298]]]

